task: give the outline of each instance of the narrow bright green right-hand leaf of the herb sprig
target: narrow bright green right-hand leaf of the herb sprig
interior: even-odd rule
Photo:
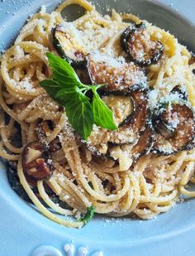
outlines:
[[[114,123],[112,110],[102,101],[97,92],[98,86],[92,86],[93,90],[93,116],[95,124],[110,130],[116,130],[117,125]]]

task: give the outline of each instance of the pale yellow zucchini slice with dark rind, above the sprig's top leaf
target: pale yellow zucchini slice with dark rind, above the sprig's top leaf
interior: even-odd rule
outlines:
[[[67,25],[68,26],[68,25]],[[71,65],[83,65],[85,51],[82,39],[75,28],[56,25],[52,29],[53,45],[59,56]]]

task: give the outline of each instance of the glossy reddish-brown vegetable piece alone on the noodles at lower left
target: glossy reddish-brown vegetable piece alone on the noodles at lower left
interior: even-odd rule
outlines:
[[[47,180],[53,172],[52,161],[45,145],[41,142],[30,142],[22,152],[22,167],[28,176],[36,180]]]

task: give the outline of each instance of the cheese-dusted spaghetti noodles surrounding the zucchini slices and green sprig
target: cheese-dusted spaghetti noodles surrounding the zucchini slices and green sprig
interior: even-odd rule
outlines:
[[[130,21],[136,24],[141,22],[132,14],[116,11],[112,11],[111,17],[103,17],[85,0],[67,0],[51,14],[42,8],[33,15],[1,59],[0,156],[17,162],[17,173],[27,195],[45,216],[59,224],[68,227],[84,225],[83,221],[74,221],[69,216],[79,216],[90,205],[95,206],[95,211],[101,215],[137,215],[144,220],[153,218],[169,210],[180,195],[195,196],[195,192],[188,190],[187,186],[189,182],[195,183],[195,149],[169,156],[149,153],[124,170],[120,168],[126,161],[123,158],[118,165],[112,160],[100,160],[93,157],[78,140],[69,127],[63,109],[39,85],[40,81],[52,75],[45,53],[50,51],[57,55],[51,29],[59,23],[67,24],[61,12],[71,4],[86,9],[86,13],[71,25],[81,32],[88,52],[98,50],[112,57],[121,56],[123,53],[118,41],[122,31]],[[158,90],[160,98],[169,94],[176,85],[185,85],[188,100],[194,107],[195,76],[192,70],[195,64],[188,65],[190,53],[169,32],[146,21],[145,25],[151,38],[164,45],[164,56],[157,64],[146,68],[150,87]],[[155,96],[150,99],[151,106],[156,100]],[[9,116],[8,121],[4,118],[5,114]],[[55,124],[55,128],[46,133],[46,142],[50,143],[58,136],[62,147],[52,156],[55,171],[50,180],[37,181],[40,195],[37,197],[26,181],[21,152],[26,143],[38,140],[36,125],[40,118]],[[21,129],[19,147],[13,143],[19,133],[16,123]],[[60,164],[62,161],[63,165]],[[69,206],[67,210],[50,199],[45,186],[49,186]],[[60,219],[54,212],[64,215],[66,219]]]

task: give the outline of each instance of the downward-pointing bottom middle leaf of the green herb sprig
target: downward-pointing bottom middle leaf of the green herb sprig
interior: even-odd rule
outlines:
[[[94,123],[93,110],[89,101],[81,101],[77,98],[69,100],[65,104],[65,110],[69,123],[84,140],[87,140],[92,132]]]

